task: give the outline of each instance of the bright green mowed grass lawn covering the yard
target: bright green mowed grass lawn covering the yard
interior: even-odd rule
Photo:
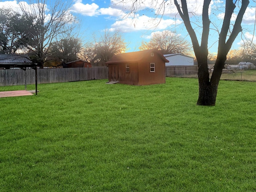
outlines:
[[[106,81],[0,98],[1,192],[256,190],[255,82],[221,81],[207,107],[197,79]]]

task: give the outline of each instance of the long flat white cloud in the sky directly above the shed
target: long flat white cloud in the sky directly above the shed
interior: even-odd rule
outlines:
[[[162,30],[171,25],[182,23],[180,20],[160,20],[159,18],[150,18],[148,16],[136,16],[136,18],[126,18],[125,20],[116,21],[112,24],[110,30],[119,30],[121,32],[132,32],[141,30]]]

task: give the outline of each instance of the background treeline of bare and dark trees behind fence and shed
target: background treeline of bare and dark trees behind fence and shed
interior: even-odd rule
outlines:
[[[29,0],[30,1],[30,0]],[[87,35],[80,32],[79,20],[70,13],[71,3],[56,0],[47,6],[47,0],[19,4],[19,8],[0,8],[0,53],[28,54],[43,66],[61,67],[64,63],[82,59],[93,66],[106,66],[114,54],[127,51],[128,43],[122,33],[104,30]],[[139,50],[156,48],[163,54],[181,53],[194,56],[190,42],[175,32],[153,32],[148,42],[142,41]],[[129,50],[131,51],[131,50]],[[228,64],[241,61],[255,63],[256,44],[244,43],[239,50],[230,50]],[[209,60],[214,60],[209,54]]]

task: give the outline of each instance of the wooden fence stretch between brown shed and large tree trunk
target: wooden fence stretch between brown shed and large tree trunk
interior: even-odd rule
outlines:
[[[165,74],[168,77],[197,75],[198,66],[168,66]]]

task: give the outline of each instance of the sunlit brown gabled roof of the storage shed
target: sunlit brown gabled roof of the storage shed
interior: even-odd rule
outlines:
[[[110,63],[124,63],[124,62],[138,62],[148,56],[149,53],[154,52],[158,54],[165,62],[169,62],[161,52],[155,49],[151,50],[143,50],[143,51],[136,51],[136,52],[129,52],[129,53],[121,53],[118,55],[114,55],[106,64]]]

